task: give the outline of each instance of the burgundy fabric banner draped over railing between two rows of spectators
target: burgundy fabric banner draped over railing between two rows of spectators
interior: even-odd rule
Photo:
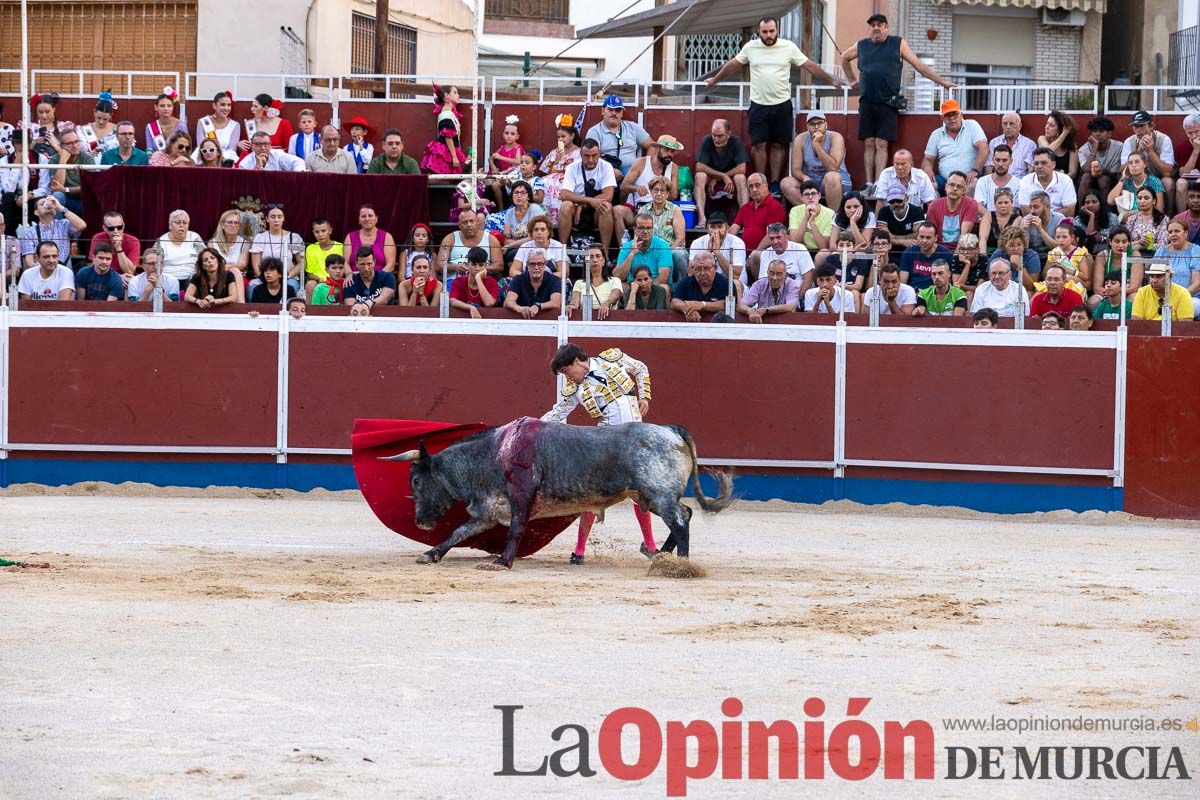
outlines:
[[[284,227],[312,241],[312,221],[329,219],[334,239],[341,241],[359,227],[359,206],[370,203],[379,227],[396,243],[408,241],[418,222],[430,221],[428,181],[425,175],[330,175],[257,169],[200,169],[186,167],[114,167],[85,172],[82,178],[85,235],[103,230],[106,211],[125,215],[125,231],[143,242],[167,233],[167,217],[184,209],[190,228],[204,240],[212,236],[223,211],[238,203],[282,203]]]

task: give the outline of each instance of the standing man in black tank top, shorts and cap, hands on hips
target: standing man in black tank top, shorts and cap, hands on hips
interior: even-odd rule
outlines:
[[[956,89],[954,84],[937,74],[912,52],[900,36],[888,36],[888,18],[883,14],[871,14],[866,24],[871,29],[868,38],[851,44],[841,55],[842,71],[851,82],[851,89],[862,84],[862,97],[858,101],[858,138],[863,139],[863,164],[866,168],[866,184],[874,188],[880,173],[888,166],[888,144],[896,140],[900,107],[904,95],[900,94],[900,74],[904,62],[946,89]],[[854,72],[853,61],[862,70],[862,82]]]

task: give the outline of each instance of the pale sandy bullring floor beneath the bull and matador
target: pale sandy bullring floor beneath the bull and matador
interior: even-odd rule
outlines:
[[[662,765],[602,770],[605,716],[720,723],[730,696],[742,720],[797,724],[820,697],[827,733],[847,697],[872,698],[877,729],[928,720],[937,780],[718,772],[690,798],[1195,796],[1195,780],[947,781],[944,748],[1178,746],[1200,778],[1200,733],[942,720],[1195,717],[1196,525],[743,504],[696,516],[708,575],[678,581],[647,576],[630,506],[583,567],[572,530],[491,573],[474,551],[418,566],[350,493],[92,492],[0,493],[0,557],[50,564],[0,570],[0,798],[664,798]],[[498,704],[526,706],[518,768],[577,723],[599,775],[493,776]]]

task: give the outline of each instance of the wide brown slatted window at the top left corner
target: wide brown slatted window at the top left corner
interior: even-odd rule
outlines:
[[[0,53],[20,54],[20,2],[0,0]],[[30,2],[32,70],[184,73],[196,70],[196,0],[170,2]],[[4,76],[18,82],[18,76]],[[163,77],[133,78],[133,94],[156,95]],[[86,77],[83,91],[125,91],[119,76]],[[18,86],[0,85],[0,91]],[[79,77],[38,76],[38,91],[76,94]]]

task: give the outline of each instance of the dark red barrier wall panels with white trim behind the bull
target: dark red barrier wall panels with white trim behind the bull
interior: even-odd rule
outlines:
[[[553,331],[293,331],[288,444],[344,449],[356,416],[494,423],[540,415],[554,399],[547,369]],[[832,344],[574,341],[590,350],[625,347],[649,362],[650,420],[688,426],[703,457],[833,458]],[[1129,342],[1126,509],[1200,518],[1200,337]],[[1075,348],[852,343],[846,456],[1108,469],[1112,359],[1110,350]],[[65,452],[106,444],[274,447],[276,360],[270,331],[13,326],[10,440],[62,445]],[[1003,480],[937,470],[847,474]],[[1020,476],[1026,483],[1063,481],[1103,479]]]

